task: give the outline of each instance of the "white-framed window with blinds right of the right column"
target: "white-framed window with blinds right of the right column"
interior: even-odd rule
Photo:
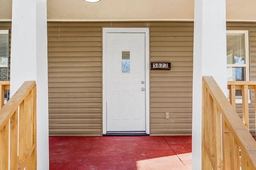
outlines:
[[[227,31],[226,40],[228,81],[248,81],[248,31]],[[236,90],[236,96],[242,96],[242,91]]]

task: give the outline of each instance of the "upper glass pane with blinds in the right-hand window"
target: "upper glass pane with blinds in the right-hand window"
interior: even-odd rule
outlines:
[[[244,33],[227,34],[227,64],[245,64]]]

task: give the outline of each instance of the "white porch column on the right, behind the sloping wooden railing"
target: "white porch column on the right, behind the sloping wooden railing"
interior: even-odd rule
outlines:
[[[225,0],[194,4],[192,170],[201,169],[202,76],[213,76],[227,93]]]

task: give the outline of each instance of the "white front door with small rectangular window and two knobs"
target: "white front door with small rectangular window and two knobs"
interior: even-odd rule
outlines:
[[[106,33],[106,131],[146,131],[145,33]]]

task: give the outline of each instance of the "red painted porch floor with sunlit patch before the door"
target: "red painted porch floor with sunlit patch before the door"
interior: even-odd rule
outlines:
[[[49,137],[50,170],[187,170],[191,136]]]

